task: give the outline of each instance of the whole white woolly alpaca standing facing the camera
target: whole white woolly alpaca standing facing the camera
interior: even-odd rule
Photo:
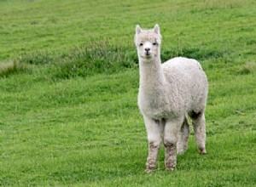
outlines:
[[[205,108],[207,76],[195,59],[177,57],[160,60],[160,27],[143,30],[136,26],[135,44],[139,59],[138,106],[148,134],[146,173],[154,171],[160,144],[165,146],[166,170],[173,171],[177,153],[187,150],[191,117],[201,154],[206,154]]]

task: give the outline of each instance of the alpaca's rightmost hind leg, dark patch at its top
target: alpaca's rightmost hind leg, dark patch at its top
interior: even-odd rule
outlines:
[[[204,113],[198,113],[191,116],[195,131],[196,144],[201,154],[207,154],[206,150],[206,119]]]

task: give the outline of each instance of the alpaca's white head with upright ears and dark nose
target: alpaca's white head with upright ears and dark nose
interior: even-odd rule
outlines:
[[[155,59],[160,57],[160,43],[161,35],[158,25],[151,30],[143,30],[140,26],[136,26],[135,45],[139,58]]]

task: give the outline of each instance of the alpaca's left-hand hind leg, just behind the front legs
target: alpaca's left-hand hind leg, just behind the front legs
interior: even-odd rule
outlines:
[[[185,116],[183,125],[179,132],[179,137],[177,140],[177,154],[183,154],[188,149],[189,140],[189,122]]]

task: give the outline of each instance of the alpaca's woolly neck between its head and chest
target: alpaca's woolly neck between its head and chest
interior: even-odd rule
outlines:
[[[156,89],[160,85],[164,85],[165,77],[161,69],[160,57],[155,59],[139,59],[139,60],[140,60],[139,62],[140,88]]]

